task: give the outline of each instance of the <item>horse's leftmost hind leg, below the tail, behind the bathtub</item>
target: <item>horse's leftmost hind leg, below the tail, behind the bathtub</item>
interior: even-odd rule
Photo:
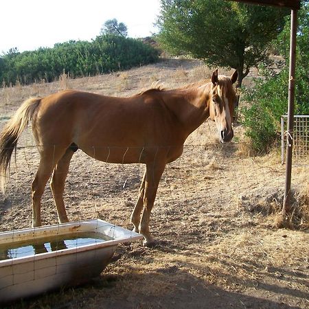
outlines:
[[[32,227],[40,227],[41,224],[41,198],[45,190],[45,185],[54,170],[54,167],[63,150],[56,150],[54,147],[42,150],[40,164],[34,181],[32,181]]]

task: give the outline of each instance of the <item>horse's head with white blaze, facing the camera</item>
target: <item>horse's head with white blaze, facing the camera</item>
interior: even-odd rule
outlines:
[[[237,78],[237,71],[227,77],[218,76],[218,69],[211,76],[209,117],[216,122],[221,143],[231,141],[234,134],[231,123],[237,97],[233,83]]]

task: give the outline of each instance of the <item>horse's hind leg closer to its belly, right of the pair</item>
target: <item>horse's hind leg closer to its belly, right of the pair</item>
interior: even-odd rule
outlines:
[[[69,219],[67,218],[67,211],[65,211],[63,192],[65,190],[65,179],[67,178],[67,173],[69,172],[69,165],[73,154],[73,150],[68,148],[65,155],[63,155],[54,168],[52,181],[50,183],[57,207],[58,220],[60,223],[69,222]]]

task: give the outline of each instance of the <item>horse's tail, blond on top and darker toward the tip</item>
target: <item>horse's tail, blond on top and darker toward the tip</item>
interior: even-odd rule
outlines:
[[[0,185],[4,192],[13,150],[16,151],[17,141],[29,124],[41,98],[30,98],[23,102],[15,115],[10,119],[0,135]]]

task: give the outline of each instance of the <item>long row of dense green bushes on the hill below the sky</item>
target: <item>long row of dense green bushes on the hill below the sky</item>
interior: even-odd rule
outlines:
[[[16,49],[0,58],[2,84],[55,80],[63,71],[73,77],[93,76],[146,65],[158,60],[159,52],[141,41],[108,34],[95,40],[58,43],[19,53]]]

